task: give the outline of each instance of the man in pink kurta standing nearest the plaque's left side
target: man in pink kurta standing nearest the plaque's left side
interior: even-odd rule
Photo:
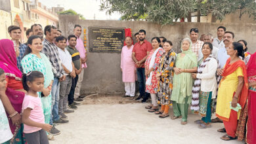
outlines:
[[[80,38],[81,33],[82,27],[76,24],[74,26],[74,35],[77,38],[75,48],[77,48],[77,50],[79,51],[79,55],[81,58],[81,73],[78,75],[78,80],[75,87],[74,101],[83,101],[83,98],[85,98],[85,96],[80,96],[81,84],[83,82],[83,73],[85,71],[85,68],[87,68],[87,53],[85,46],[83,45],[83,40]]]

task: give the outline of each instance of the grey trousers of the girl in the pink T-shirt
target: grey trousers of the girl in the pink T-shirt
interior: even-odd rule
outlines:
[[[30,134],[25,134],[25,138],[29,144],[49,144],[47,134],[43,129]]]

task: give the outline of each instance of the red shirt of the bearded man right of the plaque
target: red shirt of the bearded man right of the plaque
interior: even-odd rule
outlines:
[[[140,45],[140,41],[135,43],[135,45],[133,47],[133,52],[135,52],[135,58],[138,61],[140,61],[143,58],[145,58],[145,56],[147,56],[147,52],[150,52],[152,49],[153,49],[153,47],[152,47],[151,43],[149,43],[145,39],[141,45]],[[144,63],[142,65],[142,67],[145,67]]]

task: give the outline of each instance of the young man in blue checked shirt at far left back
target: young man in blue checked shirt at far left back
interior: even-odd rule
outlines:
[[[9,26],[8,32],[11,37],[11,40],[14,42],[14,50],[15,50],[16,56],[17,56],[17,67],[23,73],[21,60],[23,58],[23,55],[24,55],[24,52],[25,52],[27,46],[22,45],[20,43],[20,37],[21,37],[22,30],[18,26]]]

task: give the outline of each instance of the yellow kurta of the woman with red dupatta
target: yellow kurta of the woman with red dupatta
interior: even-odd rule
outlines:
[[[216,115],[217,117],[220,116],[221,119],[228,120],[230,117],[230,101],[232,101],[236,88],[238,87],[238,77],[244,77],[241,67],[238,67],[236,71],[226,76],[226,79],[219,85]],[[240,116],[239,113],[240,111],[238,111],[238,118]]]

